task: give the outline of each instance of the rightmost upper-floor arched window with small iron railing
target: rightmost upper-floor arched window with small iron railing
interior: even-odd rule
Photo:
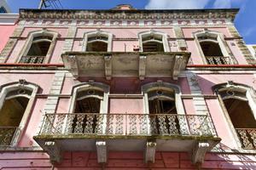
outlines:
[[[235,59],[230,55],[230,49],[224,42],[223,34],[216,31],[195,32],[195,42],[197,42],[201,56],[209,65],[232,65]]]

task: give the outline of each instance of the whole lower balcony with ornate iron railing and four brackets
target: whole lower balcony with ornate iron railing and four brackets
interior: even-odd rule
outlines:
[[[155,151],[188,151],[197,163],[220,141],[208,116],[111,113],[46,114],[34,139],[52,161],[63,151],[96,150],[98,162],[115,150],[144,151],[146,162],[154,162]]]

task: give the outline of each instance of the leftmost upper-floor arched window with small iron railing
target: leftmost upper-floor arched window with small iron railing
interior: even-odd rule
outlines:
[[[20,63],[42,64],[49,61],[58,34],[54,31],[33,31],[21,52]]]

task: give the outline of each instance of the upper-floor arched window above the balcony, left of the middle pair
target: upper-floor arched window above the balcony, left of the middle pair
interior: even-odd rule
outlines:
[[[83,51],[110,52],[113,35],[107,31],[90,31],[84,33]]]

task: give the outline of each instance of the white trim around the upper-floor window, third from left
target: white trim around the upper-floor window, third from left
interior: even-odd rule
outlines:
[[[143,52],[143,37],[147,37],[151,35],[160,35],[162,37],[164,51],[165,52],[171,51],[168,43],[168,39],[167,39],[168,35],[165,32],[150,30],[150,31],[143,31],[138,33],[140,52]]]

